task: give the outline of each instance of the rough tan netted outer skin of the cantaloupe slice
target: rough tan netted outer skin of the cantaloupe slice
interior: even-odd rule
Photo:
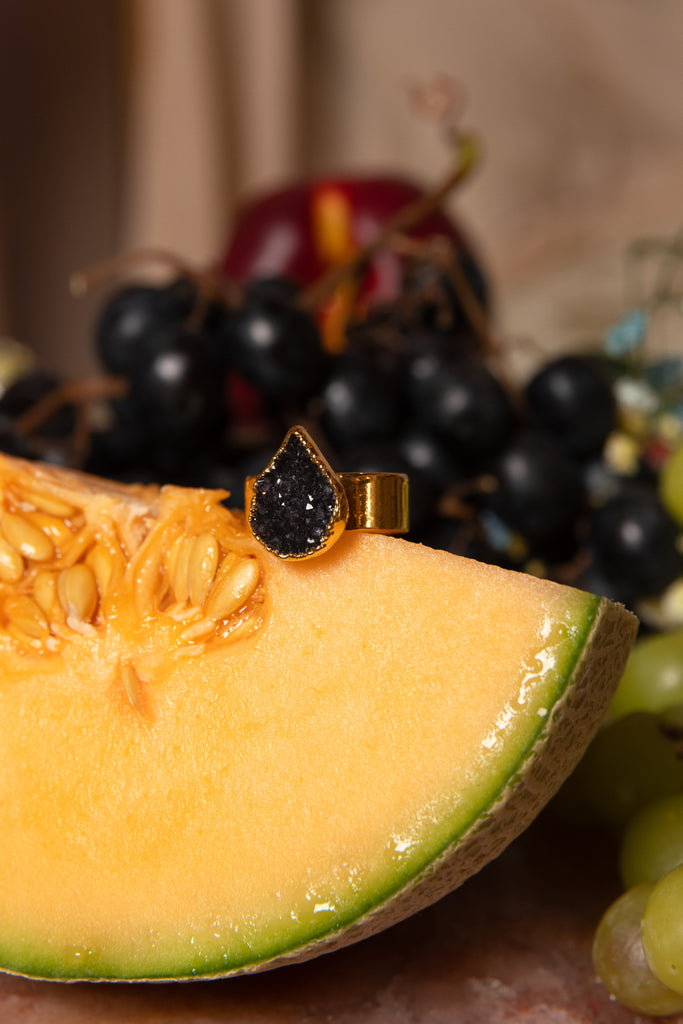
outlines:
[[[351,945],[417,913],[457,889],[494,860],[539,814],[577,766],[604,720],[624,672],[638,622],[622,605],[587,595],[583,635],[573,646],[573,665],[557,676],[556,700],[520,753],[514,772],[473,811],[469,826],[431,851],[412,878],[394,876],[360,914],[334,932],[313,936],[271,958],[229,971],[203,972],[205,979],[256,973],[299,964]],[[583,640],[583,643],[582,643]],[[369,901],[370,903],[370,901]],[[140,979],[160,980],[160,979]],[[170,979],[169,979],[170,980]]]

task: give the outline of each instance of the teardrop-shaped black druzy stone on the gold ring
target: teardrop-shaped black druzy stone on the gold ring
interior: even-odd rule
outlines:
[[[254,537],[282,558],[324,547],[336,519],[334,483],[297,433],[254,481],[249,523]]]

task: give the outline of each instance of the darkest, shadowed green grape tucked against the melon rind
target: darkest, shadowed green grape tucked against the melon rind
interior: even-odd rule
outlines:
[[[639,712],[601,729],[560,790],[555,811],[622,827],[653,800],[683,792],[683,760],[664,719]]]

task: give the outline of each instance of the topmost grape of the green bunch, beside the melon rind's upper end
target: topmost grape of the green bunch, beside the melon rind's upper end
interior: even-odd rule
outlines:
[[[639,640],[627,662],[610,714],[657,712],[683,703],[683,630]]]

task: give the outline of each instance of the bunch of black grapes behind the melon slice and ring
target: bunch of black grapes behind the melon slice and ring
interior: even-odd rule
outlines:
[[[485,311],[483,273],[464,264]],[[339,471],[411,481],[411,539],[557,578],[633,606],[683,572],[656,471],[620,473],[614,372],[571,353],[511,386],[447,272],[407,264],[403,288],[347,326],[331,354],[286,279],[249,283],[240,301],[197,282],[126,285],[102,303],[94,344],[119,393],[100,402],[79,468],[122,481],[223,487],[243,502],[295,423]],[[42,371],[0,399],[0,445],[69,463],[67,407],[26,436],[22,417],[58,382]],[[67,453],[67,455],[65,455]]]

